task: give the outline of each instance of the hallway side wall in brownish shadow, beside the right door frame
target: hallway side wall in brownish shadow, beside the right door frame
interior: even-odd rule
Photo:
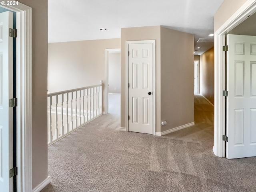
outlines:
[[[214,47],[200,58],[200,94],[214,104]]]

